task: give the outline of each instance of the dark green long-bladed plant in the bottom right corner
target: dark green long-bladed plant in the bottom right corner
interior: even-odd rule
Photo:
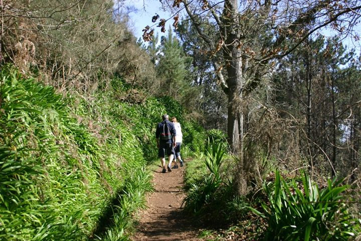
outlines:
[[[322,190],[306,173],[302,186],[292,180],[286,183],[276,172],[274,183],[264,184],[268,203],[261,214],[268,220],[265,240],[348,240],[359,231],[348,212],[345,196],[347,186],[341,181],[328,181]]]

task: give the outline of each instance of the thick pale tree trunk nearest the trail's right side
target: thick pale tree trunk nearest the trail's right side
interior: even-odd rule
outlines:
[[[244,75],[242,71],[242,53],[237,47],[242,38],[239,32],[238,1],[225,1],[224,12],[222,15],[222,24],[225,38],[223,55],[227,68],[228,85],[228,141],[231,151],[239,161],[235,175],[235,188],[238,194],[247,194],[247,187],[250,176],[250,165],[245,165],[243,156],[243,138],[244,138],[244,113],[243,113],[243,93]],[[251,174],[252,176],[252,174]]]

